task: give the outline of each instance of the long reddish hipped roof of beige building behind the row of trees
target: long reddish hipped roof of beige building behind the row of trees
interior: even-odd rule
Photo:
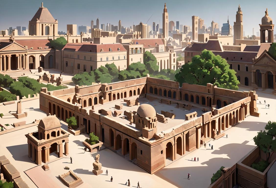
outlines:
[[[100,53],[101,49],[103,49],[102,52],[109,52],[109,48],[112,49],[112,52],[118,52],[119,51],[118,48],[120,48],[120,51],[126,51],[126,49],[120,43],[114,43],[114,44],[68,43],[63,47],[62,50]]]

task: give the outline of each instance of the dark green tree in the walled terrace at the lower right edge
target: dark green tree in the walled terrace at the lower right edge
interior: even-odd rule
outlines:
[[[266,161],[269,160],[272,152],[276,151],[276,122],[269,121],[264,131],[259,131],[253,138],[255,144],[266,153]]]

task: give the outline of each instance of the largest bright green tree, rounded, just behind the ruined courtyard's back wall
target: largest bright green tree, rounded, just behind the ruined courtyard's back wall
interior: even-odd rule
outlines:
[[[192,62],[182,65],[175,78],[180,85],[189,83],[206,86],[211,83],[220,88],[237,90],[239,81],[235,73],[225,59],[205,49],[200,55],[195,55]]]

